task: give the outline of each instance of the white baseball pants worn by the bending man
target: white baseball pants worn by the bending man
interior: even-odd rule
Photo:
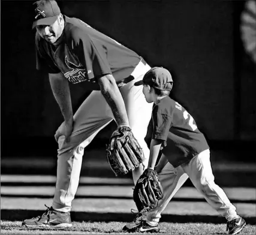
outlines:
[[[147,167],[149,160],[149,149],[144,137],[146,137],[153,103],[146,102],[142,91],[143,86],[134,86],[134,83],[143,79],[148,70],[150,70],[150,66],[140,62],[131,74],[135,80],[120,88],[129,125],[145,155],[143,162],[145,167]],[[62,212],[71,210],[71,203],[79,185],[84,148],[113,118],[112,110],[101,91],[93,91],[74,115],[74,128],[70,142],[64,141],[64,135],[59,137],[57,181],[52,204],[54,209]],[[143,166],[141,164],[140,167],[132,171],[134,183],[137,182],[142,172]]]

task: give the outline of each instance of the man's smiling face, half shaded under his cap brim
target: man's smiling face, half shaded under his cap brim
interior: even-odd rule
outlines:
[[[58,19],[52,25],[37,25],[38,34],[49,43],[55,43],[62,34],[62,17]]]

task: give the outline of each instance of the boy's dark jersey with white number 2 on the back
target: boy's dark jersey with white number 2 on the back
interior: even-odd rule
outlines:
[[[170,97],[153,107],[153,139],[164,140],[162,153],[174,166],[189,161],[209,149],[206,138],[197,128],[193,117]]]

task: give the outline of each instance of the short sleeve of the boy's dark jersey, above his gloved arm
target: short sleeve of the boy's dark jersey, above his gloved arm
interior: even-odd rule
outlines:
[[[171,127],[172,117],[167,113],[161,112],[158,106],[155,106],[152,112],[153,133],[152,139],[167,140],[168,132]]]

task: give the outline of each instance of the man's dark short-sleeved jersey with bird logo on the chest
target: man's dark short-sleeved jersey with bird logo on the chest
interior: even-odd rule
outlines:
[[[71,83],[95,83],[113,74],[117,82],[130,76],[141,58],[137,53],[95,30],[82,20],[64,16],[65,27],[57,47],[35,35],[37,70],[60,73]],[[93,86],[92,86],[93,87]]]

